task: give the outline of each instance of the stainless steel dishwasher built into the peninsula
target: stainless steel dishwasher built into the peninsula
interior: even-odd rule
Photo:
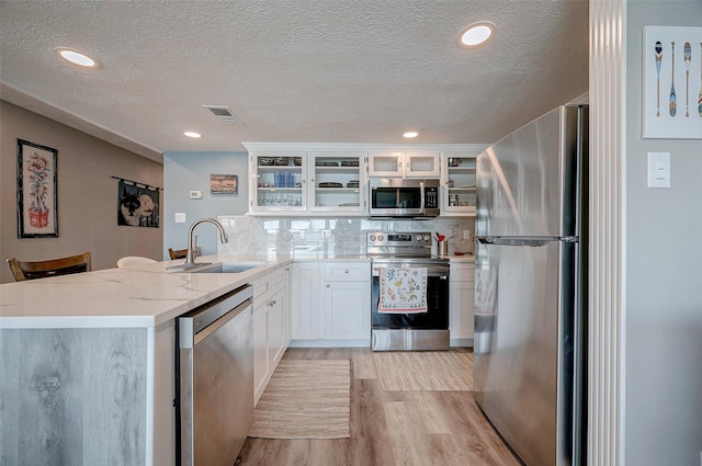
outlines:
[[[252,296],[246,285],[178,319],[181,466],[231,466],[253,422]]]

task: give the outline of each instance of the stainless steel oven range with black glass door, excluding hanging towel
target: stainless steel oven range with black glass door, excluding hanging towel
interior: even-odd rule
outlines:
[[[373,269],[371,349],[433,351],[449,349],[449,259],[431,255],[431,232],[369,231]],[[426,269],[426,311],[378,310],[381,274],[388,269]]]

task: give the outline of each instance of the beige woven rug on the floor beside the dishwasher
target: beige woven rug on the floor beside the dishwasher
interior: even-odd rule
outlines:
[[[249,436],[349,437],[351,361],[283,360],[253,411]]]

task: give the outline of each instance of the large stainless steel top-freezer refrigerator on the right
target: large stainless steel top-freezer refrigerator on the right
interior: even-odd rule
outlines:
[[[588,107],[477,158],[476,401],[528,466],[584,465]]]

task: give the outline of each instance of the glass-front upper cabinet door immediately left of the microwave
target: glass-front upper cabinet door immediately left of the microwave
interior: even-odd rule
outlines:
[[[365,211],[365,157],[363,152],[309,154],[310,211]]]

